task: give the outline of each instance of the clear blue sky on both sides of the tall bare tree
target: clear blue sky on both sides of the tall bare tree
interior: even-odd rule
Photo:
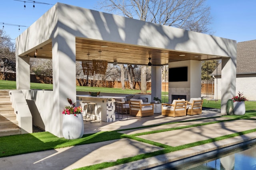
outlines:
[[[25,0],[27,1],[27,0]],[[27,1],[28,2],[28,1]],[[97,10],[98,0],[38,0],[36,2],[45,2],[56,4],[61,2],[82,8]],[[237,42],[256,39],[256,0],[206,0],[206,4],[211,8],[212,24],[210,28],[215,36],[234,39]],[[30,26],[52,5],[26,3],[15,0],[1,0],[0,10],[0,29],[2,23]],[[15,39],[26,27],[4,25],[7,35]]]

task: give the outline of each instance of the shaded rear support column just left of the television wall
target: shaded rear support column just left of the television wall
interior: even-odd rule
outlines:
[[[162,92],[162,66],[151,66],[151,102],[154,97],[161,99]]]

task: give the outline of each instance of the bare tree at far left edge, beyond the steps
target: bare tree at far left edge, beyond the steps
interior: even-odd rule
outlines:
[[[7,72],[15,72],[15,46],[10,37],[0,29],[0,68],[2,68],[4,80]]]

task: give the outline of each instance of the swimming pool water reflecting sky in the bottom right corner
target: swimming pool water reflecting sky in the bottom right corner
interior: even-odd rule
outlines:
[[[192,156],[148,170],[256,170],[256,140]]]

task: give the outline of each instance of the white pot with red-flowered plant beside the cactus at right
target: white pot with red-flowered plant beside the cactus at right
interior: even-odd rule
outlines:
[[[238,96],[233,96],[232,100],[234,102],[234,115],[244,115],[245,114],[245,101],[248,101],[243,93],[238,92]]]

